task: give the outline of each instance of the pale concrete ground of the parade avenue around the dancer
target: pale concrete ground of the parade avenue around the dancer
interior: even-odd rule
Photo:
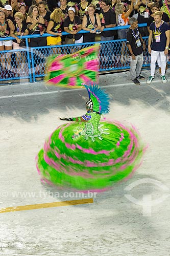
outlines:
[[[0,255],[170,255],[170,83],[156,72],[150,86],[145,80],[135,86],[129,72],[100,76],[111,97],[108,118],[132,123],[149,144],[131,179],[93,195],[92,203],[4,213],[7,207],[81,199],[42,185],[34,159],[62,123],[58,117],[85,113],[87,92],[43,82],[0,87]]]

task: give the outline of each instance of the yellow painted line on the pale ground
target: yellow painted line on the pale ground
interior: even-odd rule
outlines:
[[[60,207],[60,206],[77,205],[77,204],[91,204],[91,203],[93,203],[92,198],[62,201],[62,202],[53,202],[53,203],[44,203],[44,204],[29,204],[29,205],[1,208],[0,214],[3,214],[5,212],[11,212],[11,211],[34,210],[34,209],[42,209],[42,208]]]

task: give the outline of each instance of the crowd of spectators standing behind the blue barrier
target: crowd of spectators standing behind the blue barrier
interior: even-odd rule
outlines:
[[[0,0],[0,51],[22,49],[24,41],[20,36],[49,33],[53,36],[30,38],[30,47],[54,46],[61,44],[92,42],[98,37],[101,41],[127,38],[127,30],[109,30],[115,26],[129,25],[129,18],[135,17],[137,23],[147,23],[139,28],[141,36],[149,36],[149,27],[154,21],[154,12],[161,10],[162,19],[169,24],[161,0]],[[155,2],[154,2],[155,1]],[[170,7],[170,3],[169,3]],[[89,33],[78,33],[81,30]],[[68,34],[63,35],[65,31]],[[14,37],[8,40],[7,37]],[[108,55],[103,49],[104,55]],[[105,46],[103,46],[105,48]],[[122,43],[120,52],[125,54],[126,44]],[[18,54],[18,62],[21,56]],[[108,61],[112,61],[111,56]],[[7,63],[10,62],[10,56]],[[3,63],[1,63],[4,65]]]

